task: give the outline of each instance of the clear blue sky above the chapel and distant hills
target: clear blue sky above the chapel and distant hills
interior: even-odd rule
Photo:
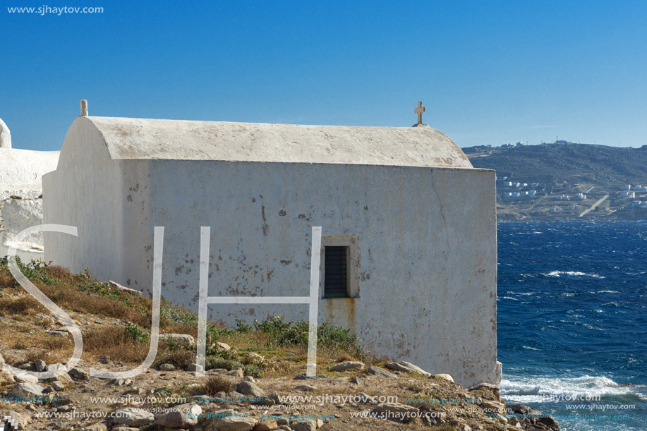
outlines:
[[[647,144],[647,1],[0,0],[0,118],[59,150],[78,116],[411,126],[461,146]],[[100,6],[99,14],[8,13]]]

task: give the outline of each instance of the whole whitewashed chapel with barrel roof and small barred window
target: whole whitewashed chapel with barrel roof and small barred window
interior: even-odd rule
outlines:
[[[194,311],[200,226],[209,296],[303,295],[322,226],[320,321],[464,385],[501,378],[495,172],[438,130],[80,116],[43,184],[45,221],[78,226],[45,234],[46,260],[150,293],[165,226],[162,295]],[[308,310],[210,307],[267,315]]]

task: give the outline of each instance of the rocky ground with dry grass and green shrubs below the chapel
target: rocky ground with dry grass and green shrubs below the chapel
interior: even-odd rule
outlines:
[[[67,298],[86,282],[56,268],[37,267],[30,275],[41,289],[54,286]],[[29,303],[11,279],[0,277],[0,362],[25,370],[0,373],[4,430],[559,430],[538,411],[506,406],[494,385],[464,388],[449,375],[373,359],[352,337],[335,344],[322,336],[318,376],[306,379],[305,349],[286,341],[298,334],[298,324],[279,317],[236,330],[214,327],[206,376],[196,377],[195,329],[186,323],[186,312],[165,308],[167,334],[150,369],[132,379],[90,377],[90,367],[131,370],[148,349],[147,329],[132,322],[149,317],[140,307],[145,300],[98,286],[81,289],[86,305],[63,305],[84,336],[80,364],[54,379],[37,380],[26,371],[59,370],[71,356],[72,337],[62,322]],[[93,295],[114,306],[101,303],[102,314],[87,312],[87,304],[98,303]],[[140,310],[142,319],[119,304]],[[169,335],[171,329],[176,332]]]

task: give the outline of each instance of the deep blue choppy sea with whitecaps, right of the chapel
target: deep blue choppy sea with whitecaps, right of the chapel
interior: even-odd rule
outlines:
[[[647,222],[498,225],[507,403],[562,430],[647,430]]]

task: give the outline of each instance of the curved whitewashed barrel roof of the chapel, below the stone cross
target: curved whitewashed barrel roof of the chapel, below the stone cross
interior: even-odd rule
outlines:
[[[351,127],[81,116],[111,159],[226,160],[471,168],[461,149],[428,126]]]

